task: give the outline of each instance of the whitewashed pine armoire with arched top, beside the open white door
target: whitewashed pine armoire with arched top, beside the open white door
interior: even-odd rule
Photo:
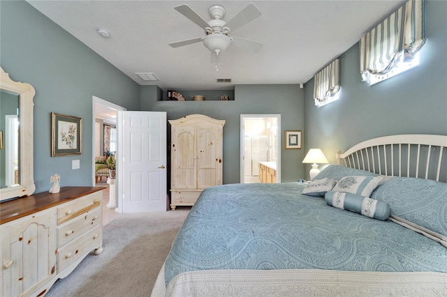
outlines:
[[[222,131],[225,121],[203,114],[170,120],[171,204],[193,205],[200,193],[222,184]]]

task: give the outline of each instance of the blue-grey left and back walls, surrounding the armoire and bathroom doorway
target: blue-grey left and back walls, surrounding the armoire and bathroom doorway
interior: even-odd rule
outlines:
[[[284,130],[304,130],[304,90],[299,89],[298,85],[236,86],[229,93],[230,99],[234,99],[231,101],[160,101],[166,90],[156,86],[139,86],[27,2],[0,1],[0,20],[1,67],[12,79],[28,82],[36,89],[36,192],[50,188],[50,176],[54,173],[61,175],[62,186],[91,185],[94,123],[91,96],[128,110],[166,111],[168,119],[187,114],[206,114],[225,119],[224,183],[240,181],[240,114],[281,114],[281,139]],[[231,98],[233,92],[234,98]],[[209,93],[207,96],[210,96]],[[82,155],[50,157],[51,112],[82,118]],[[303,149],[284,150],[282,144],[282,181],[302,178],[302,158]],[[80,160],[80,169],[71,169],[72,160]]]

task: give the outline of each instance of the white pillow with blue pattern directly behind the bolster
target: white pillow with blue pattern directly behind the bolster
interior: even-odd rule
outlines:
[[[332,190],[369,197],[381,180],[381,176],[346,176],[340,179]]]

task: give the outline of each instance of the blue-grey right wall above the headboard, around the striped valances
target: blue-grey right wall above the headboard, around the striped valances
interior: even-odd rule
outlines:
[[[397,134],[447,135],[447,1],[425,1],[420,64],[369,86],[360,82],[359,49],[342,54],[339,100],[315,107],[314,79],[305,84],[305,145],[321,148],[329,162],[337,150]],[[310,166],[306,167],[309,177]]]

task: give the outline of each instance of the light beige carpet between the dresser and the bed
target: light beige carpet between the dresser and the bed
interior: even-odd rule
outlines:
[[[46,296],[149,296],[190,210],[119,215],[103,227],[103,253],[89,254]]]

